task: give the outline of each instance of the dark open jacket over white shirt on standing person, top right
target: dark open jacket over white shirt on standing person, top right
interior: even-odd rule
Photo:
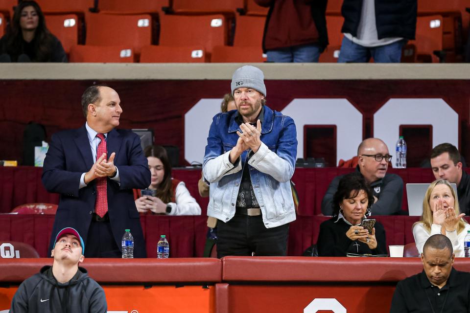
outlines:
[[[344,17],[342,33],[357,37],[363,0],[344,0],[341,14]],[[375,0],[378,39],[402,37],[415,39],[417,0]]]

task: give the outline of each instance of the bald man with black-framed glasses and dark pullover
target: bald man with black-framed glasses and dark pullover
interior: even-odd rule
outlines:
[[[368,138],[357,148],[360,172],[374,191],[372,215],[401,214],[401,197],[403,196],[403,180],[400,176],[387,173],[388,163],[392,156],[388,153],[385,142],[378,138]],[[333,212],[333,195],[342,176],[335,177],[329,184],[327,193],[322,200],[322,213],[331,215]]]

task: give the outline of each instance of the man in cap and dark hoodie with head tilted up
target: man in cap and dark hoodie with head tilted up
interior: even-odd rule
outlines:
[[[105,313],[103,289],[78,267],[85,259],[85,244],[71,227],[59,231],[51,251],[52,266],[26,279],[16,291],[10,313]]]

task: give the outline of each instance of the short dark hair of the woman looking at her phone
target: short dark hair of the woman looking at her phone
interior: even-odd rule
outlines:
[[[368,203],[366,215],[369,214],[371,206],[374,203],[372,188],[359,172],[352,172],[346,174],[339,180],[338,189],[333,196],[333,217],[338,216],[339,205],[343,200],[357,197],[361,190],[364,190],[367,195]]]

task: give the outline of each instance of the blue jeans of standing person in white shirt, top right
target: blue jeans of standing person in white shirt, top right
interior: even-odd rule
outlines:
[[[365,47],[343,37],[338,63],[367,63],[371,57],[375,63],[400,63],[405,43],[406,40],[400,40],[389,45]]]

